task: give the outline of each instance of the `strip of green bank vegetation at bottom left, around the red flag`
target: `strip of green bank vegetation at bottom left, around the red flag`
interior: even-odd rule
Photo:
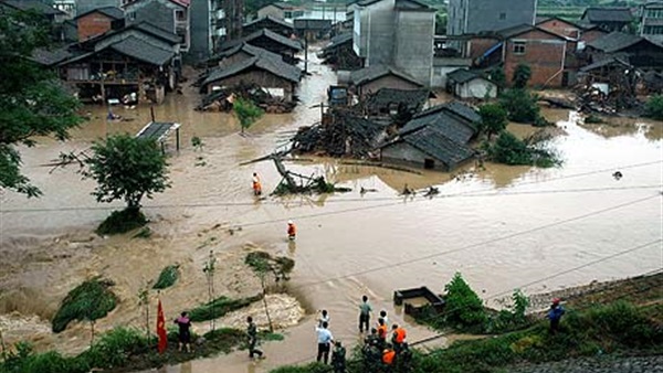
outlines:
[[[3,362],[0,372],[7,373],[86,373],[93,369],[104,371],[141,371],[207,358],[219,352],[229,353],[241,348],[245,333],[236,329],[220,329],[203,335],[191,353],[177,351],[177,333],[168,334],[168,349],[158,354],[156,339],[148,341],[138,330],[116,328],[103,334],[91,349],[77,356],[64,358],[50,351],[34,353],[32,345],[20,342]]]

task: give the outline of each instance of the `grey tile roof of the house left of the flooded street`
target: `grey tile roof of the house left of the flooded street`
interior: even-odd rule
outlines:
[[[202,86],[240,74],[250,68],[263,70],[293,83],[299,82],[302,77],[302,71],[293,65],[274,58],[256,56],[213,70],[202,82]]]

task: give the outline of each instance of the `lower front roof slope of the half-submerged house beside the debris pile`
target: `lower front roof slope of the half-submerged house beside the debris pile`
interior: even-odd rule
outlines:
[[[402,141],[448,166],[455,166],[474,156],[472,148],[448,138],[434,127],[424,127],[401,138]]]

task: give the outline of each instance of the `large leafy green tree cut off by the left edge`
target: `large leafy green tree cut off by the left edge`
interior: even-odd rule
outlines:
[[[21,173],[17,145],[32,147],[34,137],[67,138],[81,122],[78,100],[56,77],[31,60],[38,47],[49,46],[43,20],[30,12],[0,17],[0,188],[29,198],[41,191]]]

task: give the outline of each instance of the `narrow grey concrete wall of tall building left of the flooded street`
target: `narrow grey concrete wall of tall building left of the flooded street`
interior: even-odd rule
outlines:
[[[189,56],[194,62],[208,58],[212,52],[211,6],[210,0],[194,0],[189,6],[191,17]]]

